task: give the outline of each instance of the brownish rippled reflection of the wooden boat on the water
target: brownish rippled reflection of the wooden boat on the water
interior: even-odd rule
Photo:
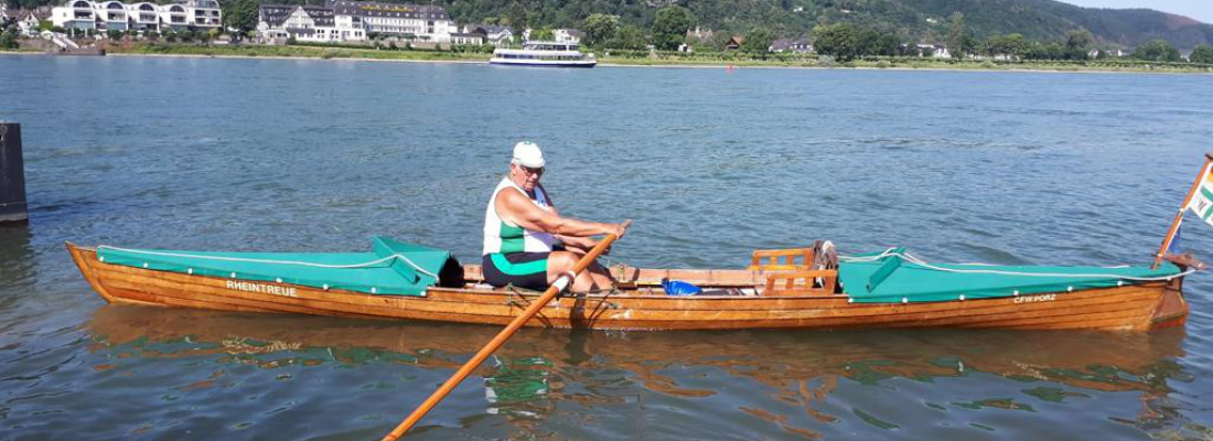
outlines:
[[[437,385],[409,383],[408,378],[418,376],[414,371],[432,373],[427,378],[444,378],[499,330],[107,305],[96,313],[87,331],[93,353],[103,359],[203,357],[218,366],[269,371],[292,366],[410,372],[405,376],[405,390],[395,390],[397,399],[382,403],[388,414],[371,424],[389,428],[391,412],[410,407],[404,402],[420,402]],[[475,426],[484,416],[495,416],[505,418],[514,431],[535,435],[543,433],[547,423],[564,424],[548,419],[579,418],[580,413],[570,407],[598,408],[597,416],[581,417],[602,418],[602,407],[668,405],[671,409],[685,407],[687,412],[695,406],[710,406],[714,413],[699,418],[718,417],[742,426],[762,422],[779,428],[784,435],[820,437],[833,434],[839,425],[852,424],[877,433],[906,429],[930,434],[933,424],[904,418],[871,397],[899,393],[917,395],[924,408],[935,413],[1021,412],[1021,418],[1029,419],[1040,418],[1038,414],[1055,406],[1082,408],[1131,395],[1138,401],[1135,413],[1109,411],[1101,418],[1152,431],[1168,426],[1168,419],[1175,416],[1173,403],[1167,400],[1172,391],[1168,380],[1185,380],[1174,362],[1184,355],[1180,346],[1184,337],[1183,330],[1123,334],[524,330],[477,371],[483,380],[465,382],[462,389],[475,388],[482,399],[473,407],[466,401],[460,403],[466,407],[467,418],[456,424]],[[287,377],[279,379],[289,379],[291,374],[280,376]],[[990,382],[990,376],[1009,382]],[[222,380],[206,378],[182,390]],[[368,384],[353,393],[391,390],[394,386],[389,383]],[[958,390],[974,388],[975,383],[980,383],[975,394],[958,399]],[[989,388],[990,383],[1013,388],[1009,391]],[[734,389],[739,386],[768,390],[775,405],[714,402],[735,400],[739,394]],[[642,403],[644,400],[654,402]],[[439,436],[438,425],[442,424],[427,426],[426,433]],[[983,430],[993,430],[996,425],[969,424]],[[637,430],[650,433],[653,428]],[[685,435],[695,437],[713,434],[711,425],[680,430],[690,430]]]

